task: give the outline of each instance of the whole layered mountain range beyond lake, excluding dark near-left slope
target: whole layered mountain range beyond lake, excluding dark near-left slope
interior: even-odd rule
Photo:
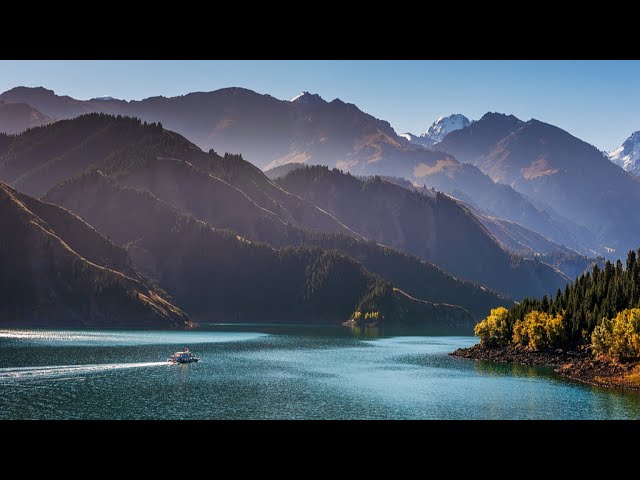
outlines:
[[[468,327],[507,297],[555,294],[640,228],[637,178],[537,120],[452,115],[415,140],[308,92],[127,102],[18,87],[0,102],[7,191],[113,242],[122,273],[184,315],[165,324],[370,309]]]

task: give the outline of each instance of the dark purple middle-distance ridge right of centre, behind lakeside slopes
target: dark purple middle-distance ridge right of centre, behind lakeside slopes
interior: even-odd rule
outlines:
[[[367,238],[516,298],[555,292],[567,281],[548,265],[510,256],[468,209],[439,192],[421,194],[321,166],[294,170],[278,182]]]

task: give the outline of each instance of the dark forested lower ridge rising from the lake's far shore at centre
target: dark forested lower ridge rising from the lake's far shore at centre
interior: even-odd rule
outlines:
[[[47,199],[126,245],[136,266],[202,321],[341,323],[360,310],[379,311],[389,324],[474,322],[460,307],[407,300],[336,251],[248,241],[97,171],[61,183]]]

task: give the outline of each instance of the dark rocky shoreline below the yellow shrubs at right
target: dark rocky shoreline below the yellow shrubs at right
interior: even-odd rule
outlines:
[[[469,348],[459,348],[451,355],[473,360],[548,366],[553,367],[554,371],[563,377],[589,385],[640,390],[640,362],[604,362],[596,360],[586,349],[532,352],[515,345],[489,348],[478,344]]]

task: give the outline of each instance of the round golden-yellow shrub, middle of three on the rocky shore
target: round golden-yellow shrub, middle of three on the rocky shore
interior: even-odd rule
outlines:
[[[564,319],[562,315],[533,310],[518,320],[513,326],[513,343],[530,350],[541,350],[565,341]]]

